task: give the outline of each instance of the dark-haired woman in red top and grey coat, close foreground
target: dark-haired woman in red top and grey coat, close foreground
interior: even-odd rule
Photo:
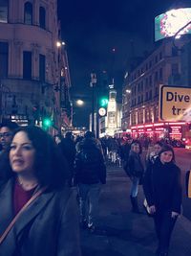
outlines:
[[[19,128],[7,153],[0,162],[9,173],[0,186],[0,256],[80,256],[76,200],[53,138]]]

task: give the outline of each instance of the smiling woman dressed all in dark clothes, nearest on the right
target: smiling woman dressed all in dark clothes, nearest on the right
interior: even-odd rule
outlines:
[[[146,170],[143,190],[159,240],[156,255],[167,256],[181,206],[180,168],[170,146],[163,146],[155,163]]]

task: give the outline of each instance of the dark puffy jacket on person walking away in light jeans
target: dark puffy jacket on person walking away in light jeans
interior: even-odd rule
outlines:
[[[75,182],[83,184],[106,183],[103,154],[95,139],[84,139],[74,161]]]

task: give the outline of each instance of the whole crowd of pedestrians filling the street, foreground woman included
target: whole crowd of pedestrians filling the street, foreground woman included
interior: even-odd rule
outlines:
[[[156,255],[168,255],[181,206],[180,168],[169,145],[145,143],[143,161],[141,141],[130,136],[123,142],[98,140],[91,131],[77,138],[71,131],[52,137],[42,128],[11,122],[2,123],[0,143],[0,256],[81,255],[79,227],[95,232],[111,163],[131,180],[135,214],[141,214],[138,187],[143,185],[159,240]]]

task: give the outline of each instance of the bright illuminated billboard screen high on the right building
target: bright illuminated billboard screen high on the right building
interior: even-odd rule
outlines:
[[[155,40],[175,35],[191,21],[191,8],[181,8],[164,12],[155,18]],[[180,31],[180,35],[191,34],[191,24]]]

